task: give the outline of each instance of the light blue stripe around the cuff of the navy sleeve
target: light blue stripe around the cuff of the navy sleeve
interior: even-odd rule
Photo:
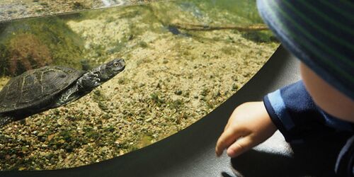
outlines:
[[[284,101],[282,100],[282,96],[280,94],[280,90],[276,90],[272,93],[268,93],[268,99],[270,105],[272,105],[275,114],[278,116],[282,125],[284,125],[286,130],[292,129],[294,127],[294,122],[290,118],[289,113],[287,113],[286,106]]]

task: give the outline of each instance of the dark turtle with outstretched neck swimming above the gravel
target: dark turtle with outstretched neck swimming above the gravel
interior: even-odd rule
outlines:
[[[0,91],[0,127],[72,103],[124,69],[124,59],[113,59],[87,72],[46,66],[13,77]]]

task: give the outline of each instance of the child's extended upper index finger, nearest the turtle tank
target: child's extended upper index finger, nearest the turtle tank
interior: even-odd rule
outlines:
[[[225,130],[222,135],[217,139],[217,146],[215,147],[215,152],[217,156],[220,156],[224,149],[229,147],[232,143],[236,141],[239,137],[244,136],[244,131],[238,130],[237,128],[229,128]]]

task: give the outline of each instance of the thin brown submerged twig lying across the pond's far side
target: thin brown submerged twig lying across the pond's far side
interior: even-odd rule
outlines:
[[[193,23],[172,23],[173,27],[182,30],[239,30],[239,31],[255,31],[255,30],[269,30],[269,28],[264,24],[253,24],[249,26],[236,26],[236,25],[199,25]]]

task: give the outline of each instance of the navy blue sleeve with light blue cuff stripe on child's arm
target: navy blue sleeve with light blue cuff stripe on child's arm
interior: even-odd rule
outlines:
[[[287,142],[304,139],[321,131],[353,131],[352,123],[333,118],[318,108],[302,81],[268,93],[263,102]]]

